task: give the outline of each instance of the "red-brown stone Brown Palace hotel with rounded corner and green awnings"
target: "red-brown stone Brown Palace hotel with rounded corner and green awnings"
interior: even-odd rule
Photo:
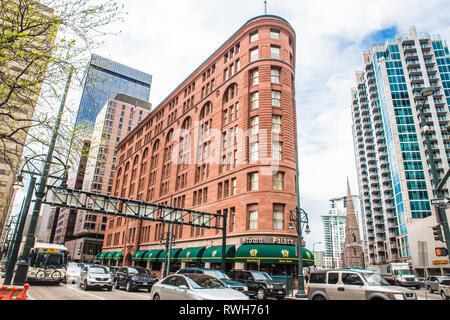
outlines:
[[[249,20],[118,145],[112,195],[228,216],[227,269],[296,270],[295,32]],[[111,217],[109,265],[164,268],[168,224]],[[170,271],[220,268],[222,232],[174,225]],[[304,265],[311,265],[309,251]]]

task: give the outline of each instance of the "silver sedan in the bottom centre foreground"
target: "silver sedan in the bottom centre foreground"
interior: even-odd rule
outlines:
[[[229,288],[207,274],[175,274],[153,285],[153,300],[248,300],[242,292]]]

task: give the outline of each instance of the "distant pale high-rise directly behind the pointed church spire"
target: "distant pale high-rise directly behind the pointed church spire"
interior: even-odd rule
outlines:
[[[344,251],[345,243],[345,225],[347,214],[348,196],[333,198],[330,200],[330,210],[328,214],[322,215],[324,231],[324,255],[322,256],[322,265],[326,267],[341,267],[341,254]],[[360,238],[364,239],[365,234],[362,228],[361,206],[359,196],[352,195],[352,202],[355,209],[356,219],[358,221]]]

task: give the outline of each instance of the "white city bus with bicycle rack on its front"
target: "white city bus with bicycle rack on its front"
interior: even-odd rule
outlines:
[[[68,253],[63,245],[36,243],[30,252],[27,282],[63,282],[66,277]]]

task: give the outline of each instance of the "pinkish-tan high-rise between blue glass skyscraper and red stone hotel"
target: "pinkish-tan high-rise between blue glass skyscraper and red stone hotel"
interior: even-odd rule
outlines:
[[[151,111],[151,104],[124,94],[109,99],[100,110],[90,140],[89,154],[83,165],[83,179],[79,187],[84,191],[110,194],[117,158],[116,146]],[[87,154],[87,153],[86,153]],[[94,260],[101,251],[107,216],[85,211],[61,209],[60,221],[69,222],[71,215],[72,237],[64,244],[76,261]],[[62,229],[64,230],[64,229]],[[67,233],[67,230],[65,231]]]

